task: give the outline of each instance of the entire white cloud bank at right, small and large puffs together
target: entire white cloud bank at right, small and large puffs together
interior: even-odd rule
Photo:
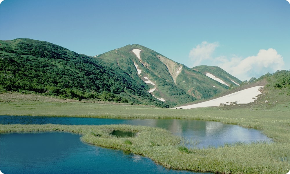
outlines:
[[[218,46],[218,42],[208,43],[203,41],[198,44],[189,53],[192,62],[191,67],[201,65],[201,63],[205,65],[210,63],[210,65],[219,66],[242,81],[285,69],[283,57],[273,48],[261,49],[257,55],[247,58],[236,55],[231,58],[227,56],[213,57],[213,53]]]

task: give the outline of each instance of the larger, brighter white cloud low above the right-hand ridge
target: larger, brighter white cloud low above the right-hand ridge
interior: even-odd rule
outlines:
[[[236,56],[230,60],[226,57],[218,57],[215,62],[220,68],[240,80],[258,78],[268,72],[273,73],[284,68],[283,57],[273,48],[260,50],[257,55],[245,59]]]

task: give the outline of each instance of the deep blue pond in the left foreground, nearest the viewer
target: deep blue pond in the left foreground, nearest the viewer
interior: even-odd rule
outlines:
[[[167,169],[127,151],[85,144],[79,137],[71,133],[0,134],[0,170],[4,174],[198,174]]]

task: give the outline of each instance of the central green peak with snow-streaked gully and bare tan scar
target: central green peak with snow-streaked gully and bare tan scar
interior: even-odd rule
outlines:
[[[113,69],[122,69],[169,106],[208,99],[228,86],[141,45],[127,45],[96,56]]]

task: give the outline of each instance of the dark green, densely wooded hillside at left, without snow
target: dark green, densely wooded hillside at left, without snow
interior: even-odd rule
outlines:
[[[166,106],[126,72],[93,57],[32,39],[0,44],[0,91]]]

